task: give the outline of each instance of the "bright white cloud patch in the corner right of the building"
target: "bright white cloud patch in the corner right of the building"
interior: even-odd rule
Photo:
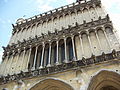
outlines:
[[[120,0],[102,0],[107,13],[110,15],[111,20],[117,30],[120,28]],[[118,31],[120,34],[120,31]]]

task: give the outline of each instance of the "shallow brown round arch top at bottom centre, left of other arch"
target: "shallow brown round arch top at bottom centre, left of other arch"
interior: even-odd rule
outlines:
[[[45,79],[34,85],[30,90],[74,90],[70,85],[56,79]]]

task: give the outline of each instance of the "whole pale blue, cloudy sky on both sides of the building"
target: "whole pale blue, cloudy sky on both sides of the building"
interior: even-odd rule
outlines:
[[[2,46],[7,46],[12,35],[12,24],[18,18],[29,18],[73,2],[76,0],[0,0],[0,62]],[[120,35],[120,0],[102,0],[102,3]]]

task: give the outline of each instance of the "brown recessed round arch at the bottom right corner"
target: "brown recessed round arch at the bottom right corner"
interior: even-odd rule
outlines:
[[[101,71],[94,76],[88,90],[119,90],[120,75],[112,71]]]

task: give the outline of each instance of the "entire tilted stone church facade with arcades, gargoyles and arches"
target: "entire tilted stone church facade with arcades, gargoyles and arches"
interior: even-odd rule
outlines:
[[[120,43],[100,0],[18,19],[0,90],[119,90]]]

